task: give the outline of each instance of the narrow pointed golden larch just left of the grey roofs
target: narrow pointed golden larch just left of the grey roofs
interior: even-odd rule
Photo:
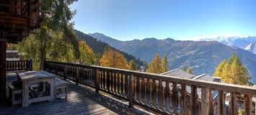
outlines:
[[[149,73],[162,73],[161,57],[158,53],[156,54],[156,57],[154,57],[154,60],[149,64],[149,69],[146,71]]]

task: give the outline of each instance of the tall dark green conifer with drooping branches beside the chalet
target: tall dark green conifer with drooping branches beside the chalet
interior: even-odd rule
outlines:
[[[71,19],[76,12],[71,11],[70,5],[77,0],[59,1],[42,0],[45,5],[40,6],[43,11],[49,11],[50,14],[42,14],[43,22],[38,31],[40,40],[40,68],[43,68],[44,60],[47,58],[47,48],[51,40],[55,39],[55,33],[61,33],[63,41],[69,42],[74,50],[74,56],[79,57],[79,43],[73,29],[74,22]],[[66,45],[66,44],[65,44]]]

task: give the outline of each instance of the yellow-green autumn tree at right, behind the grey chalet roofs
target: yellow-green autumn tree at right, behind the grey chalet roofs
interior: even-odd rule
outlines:
[[[252,79],[247,68],[242,65],[239,57],[236,54],[231,55],[228,60],[224,60],[216,68],[214,76],[221,77],[221,80],[226,83],[233,83],[239,85],[251,85]]]

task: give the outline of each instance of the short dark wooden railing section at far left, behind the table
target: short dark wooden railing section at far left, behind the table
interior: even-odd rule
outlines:
[[[6,61],[6,71],[32,70],[32,60],[9,60]]]

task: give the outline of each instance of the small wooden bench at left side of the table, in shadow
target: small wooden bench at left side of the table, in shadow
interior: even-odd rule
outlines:
[[[17,85],[17,82],[13,82],[9,88],[9,101],[14,106],[15,104],[22,103],[22,88]]]

